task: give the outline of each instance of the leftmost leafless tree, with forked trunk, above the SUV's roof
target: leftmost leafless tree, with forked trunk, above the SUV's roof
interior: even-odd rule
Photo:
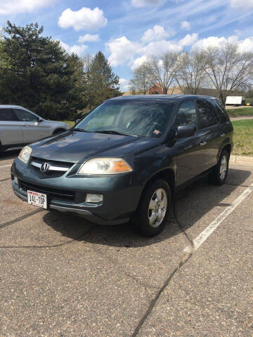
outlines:
[[[168,89],[175,81],[178,57],[179,53],[168,51],[159,58],[153,56],[147,62],[150,81],[152,81],[153,84],[159,84],[162,93],[167,94]]]

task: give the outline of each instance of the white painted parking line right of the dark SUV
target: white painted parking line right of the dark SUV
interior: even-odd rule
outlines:
[[[247,198],[247,196],[252,192],[253,192],[253,184],[247,187],[247,189],[244,192],[242,192],[242,194],[240,194],[239,197],[236,198],[231,205],[226,207],[226,209],[224,209],[224,211],[219,216],[217,216],[217,218],[215,218],[214,221],[212,221],[212,223],[210,223],[210,225],[207,226],[205,230],[203,230],[200,233],[200,235],[196,237],[196,239],[193,240],[193,248],[187,246],[186,249],[184,249],[183,251],[186,251],[188,253],[190,252],[193,253],[194,251],[196,251],[212,234],[212,232],[214,232],[214,230],[216,230],[216,228],[219,227],[219,225],[221,225],[223,220],[225,220],[229,216],[229,214],[232,213],[234,209],[236,209],[236,207],[239,206],[240,203],[245,198]]]

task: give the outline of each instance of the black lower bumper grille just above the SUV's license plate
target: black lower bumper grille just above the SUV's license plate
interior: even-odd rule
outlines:
[[[38,185],[33,185],[30,183],[26,183],[25,181],[19,180],[20,182],[20,187],[22,190],[32,190],[34,192],[39,192],[39,193],[45,193],[48,195],[49,199],[54,198],[54,199],[59,199],[59,200],[74,200],[74,191],[69,191],[69,190],[58,190],[56,188],[51,188],[51,187],[45,187],[45,186],[38,186]]]

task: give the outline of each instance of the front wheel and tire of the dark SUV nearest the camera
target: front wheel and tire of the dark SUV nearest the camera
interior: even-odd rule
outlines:
[[[145,187],[132,221],[138,232],[153,237],[163,230],[170,209],[171,189],[165,180],[157,179]]]

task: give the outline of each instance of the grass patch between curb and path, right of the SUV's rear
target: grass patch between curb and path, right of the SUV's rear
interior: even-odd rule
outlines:
[[[233,121],[233,154],[253,156],[253,119]]]

